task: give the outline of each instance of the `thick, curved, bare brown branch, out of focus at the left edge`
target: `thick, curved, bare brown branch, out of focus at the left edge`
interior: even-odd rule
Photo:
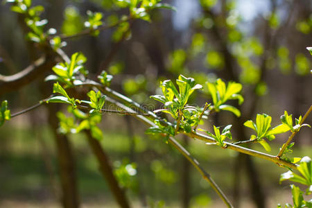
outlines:
[[[54,58],[42,56],[23,71],[19,71],[11,76],[0,75],[0,95],[12,92],[16,89],[31,83],[35,78],[41,76],[45,71],[55,65]]]

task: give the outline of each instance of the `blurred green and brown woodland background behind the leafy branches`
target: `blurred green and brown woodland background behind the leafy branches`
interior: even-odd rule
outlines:
[[[4,1],[3,1],[4,2]],[[66,40],[64,51],[81,51],[87,57],[89,77],[99,69],[114,76],[111,87],[148,106],[159,94],[159,82],[179,74],[204,86],[189,103],[211,101],[205,82],[222,78],[243,84],[242,116],[213,114],[203,128],[233,124],[236,140],[251,132],[243,122],[257,113],[272,116],[277,125],[284,110],[298,118],[312,103],[312,3],[309,0],[175,0],[163,1],[173,10],[153,10],[151,21],[135,20],[102,31],[97,37]],[[128,10],[114,0],[33,0],[42,5],[46,28],[73,35],[84,29],[86,12],[102,12],[105,24]],[[31,53],[17,13],[0,6],[0,74],[24,69],[40,55]],[[51,73],[51,72],[50,72]],[[3,94],[11,112],[46,98],[44,77],[15,92]],[[51,88],[49,89],[51,92]],[[64,109],[60,109],[66,111]],[[42,106],[8,121],[0,128],[0,207],[61,207],[58,144],[51,114]],[[312,124],[312,117],[306,123]],[[50,122],[50,123],[49,123]],[[57,124],[56,124],[57,125]],[[55,126],[55,125],[54,125]],[[161,137],[145,135],[146,126],[130,116],[104,114],[101,144],[114,173],[133,207],[223,207],[199,173]],[[311,129],[295,137],[293,157],[311,157]],[[276,155],[289,134],[272,141]],[[73,175],[81,207],[117,207],[85,135],[68,135]],[[183,136],[177,139],[198,159],[225,191],[235,207],[276,207],[291,202],[291,190],[279,175],[287,170],[261,159]],[[265,151],[254,144],[252,148]]]

